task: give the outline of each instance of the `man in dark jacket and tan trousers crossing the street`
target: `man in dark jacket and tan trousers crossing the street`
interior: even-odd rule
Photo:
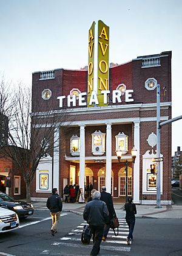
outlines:
[[[62,211],[62,201],[61,197],[58,195],[57,188],[53,188],[52,196],[48,197],[46,206],[50,210],[50,216],[52,216],[52,228],[50,231],[52,235],[55,235]]]

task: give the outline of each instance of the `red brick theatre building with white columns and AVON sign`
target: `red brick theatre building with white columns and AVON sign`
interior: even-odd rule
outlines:
[[[55,130],[59,150],[50,152],[39,163],[32,182],[32,200],[45,201],[53,187],[58,188],[62,197],[66,184],[78,183],[84,190],[92,183],[96,190],[106,185],[116,201],[124,202],[127,179],[127,194],[133,196],[135,203],[156,204],[157,170],[150,170],[157,149],[156,87],[160,84],[160,120],[166,121],[171,118],[171,52],[144,55],[109,66],[109,30],[105,24],[99,24],[98,59],[94,65],[92,29],[88,67],[33,73],[34,118],[44,119],[47,102],[58,118],[63,110],[67,118]],[[133,146],[137,149],[135,163],[131,155]],[[116,156],[118,149],[123,152],[120,162]],[[170,124],[161,128],[161,157],[161,204],[171,204]]]

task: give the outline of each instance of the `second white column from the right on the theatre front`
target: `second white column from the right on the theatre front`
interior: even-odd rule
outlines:
[[[111,173],[112,173],[112,134],[111,123],[107,123],[106,128],[106,190],[111,193]]]

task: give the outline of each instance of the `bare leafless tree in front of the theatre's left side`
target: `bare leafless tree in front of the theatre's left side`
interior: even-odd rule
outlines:
[[[44,112],[32,113],[30,88],[19,85],[13,93],[12,115],[8,116],[8,144],[1,152],[19,166],[26,185],[27,202],[30,202],[30,185],[39,160],[57,150],[54,134],[66,121],[67,112],[59,115],[52,110],[49,101],[44,101]],[[37,108],[38,109],[38,108]]]

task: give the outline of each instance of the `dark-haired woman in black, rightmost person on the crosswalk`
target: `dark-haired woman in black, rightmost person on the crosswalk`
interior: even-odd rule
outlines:
[[[129,227],[129,235],[127,236],[127,244],[131,244],[133,241],[133,230],[135,227],[135,214],[136,214],[136,205],[133,203],[132,197],[127,197],[127,203],[124,205],[126,210],[126,222]]]

